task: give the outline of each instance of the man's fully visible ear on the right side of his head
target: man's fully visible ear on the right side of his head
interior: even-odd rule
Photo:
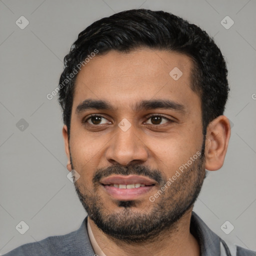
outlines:
[[[204,151],[205,169],[218,170],[223,165],[230,130],[229,120],[224,115],[216,117],[208,124]]]

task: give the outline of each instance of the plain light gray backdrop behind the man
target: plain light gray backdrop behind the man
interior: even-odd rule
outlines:
[[[60,107],[46,94],[57,86],[78,33],[131,8],[162,9],[199,25],[225,56],[231,138],[223,167],[205,179],[194,211],[223,239],[256,250],[255,0],[0,0],[1,254],[80,226],[85,211],[66,177]],[[15,24],[21,15],[29,21],[24,29]],[[234,21],[229,29],[220,23],[226,15]],[[23,130],[16,126],[21,118],[28,123]],[[21,220],[29,225],[23,235],[15,229]],[[229,234],[220,229],[226,220],[234,225]]]

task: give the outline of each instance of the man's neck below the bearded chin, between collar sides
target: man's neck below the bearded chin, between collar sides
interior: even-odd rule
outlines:
[[[96,242],[106,256],[134,256],[137,254],[152,254],[154,256],[199,256],[199,244],[189,231],[191,213],[192,209],[185,212],[169,229],[160,232],[159,235],[150,241],[141,243],[125,242],[109,237],[89,217],[88,221]]]

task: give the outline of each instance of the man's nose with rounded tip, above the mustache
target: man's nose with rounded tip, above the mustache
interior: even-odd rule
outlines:
[[[112,164],[141,164],[147,160],[148,151],[142,137],[136,134],[133,125],[126,131],[117,126],[116,134],[110,140],[105,156]]]

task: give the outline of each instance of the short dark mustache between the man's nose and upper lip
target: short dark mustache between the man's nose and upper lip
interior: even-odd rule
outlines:
[[[107,177],[111,174],[121,174],[121,175],[142,175],[154,179],[159,184],[164,184],[166,178],[163,177],[162,173],[158,169],[150,169],[149,167],[143,166],[141,164],[134,164],[129,166],[123,166],[120,164],[114,164],[107,168],[97,169],[93,175],[93,183],[98,183],[103,177]]]

